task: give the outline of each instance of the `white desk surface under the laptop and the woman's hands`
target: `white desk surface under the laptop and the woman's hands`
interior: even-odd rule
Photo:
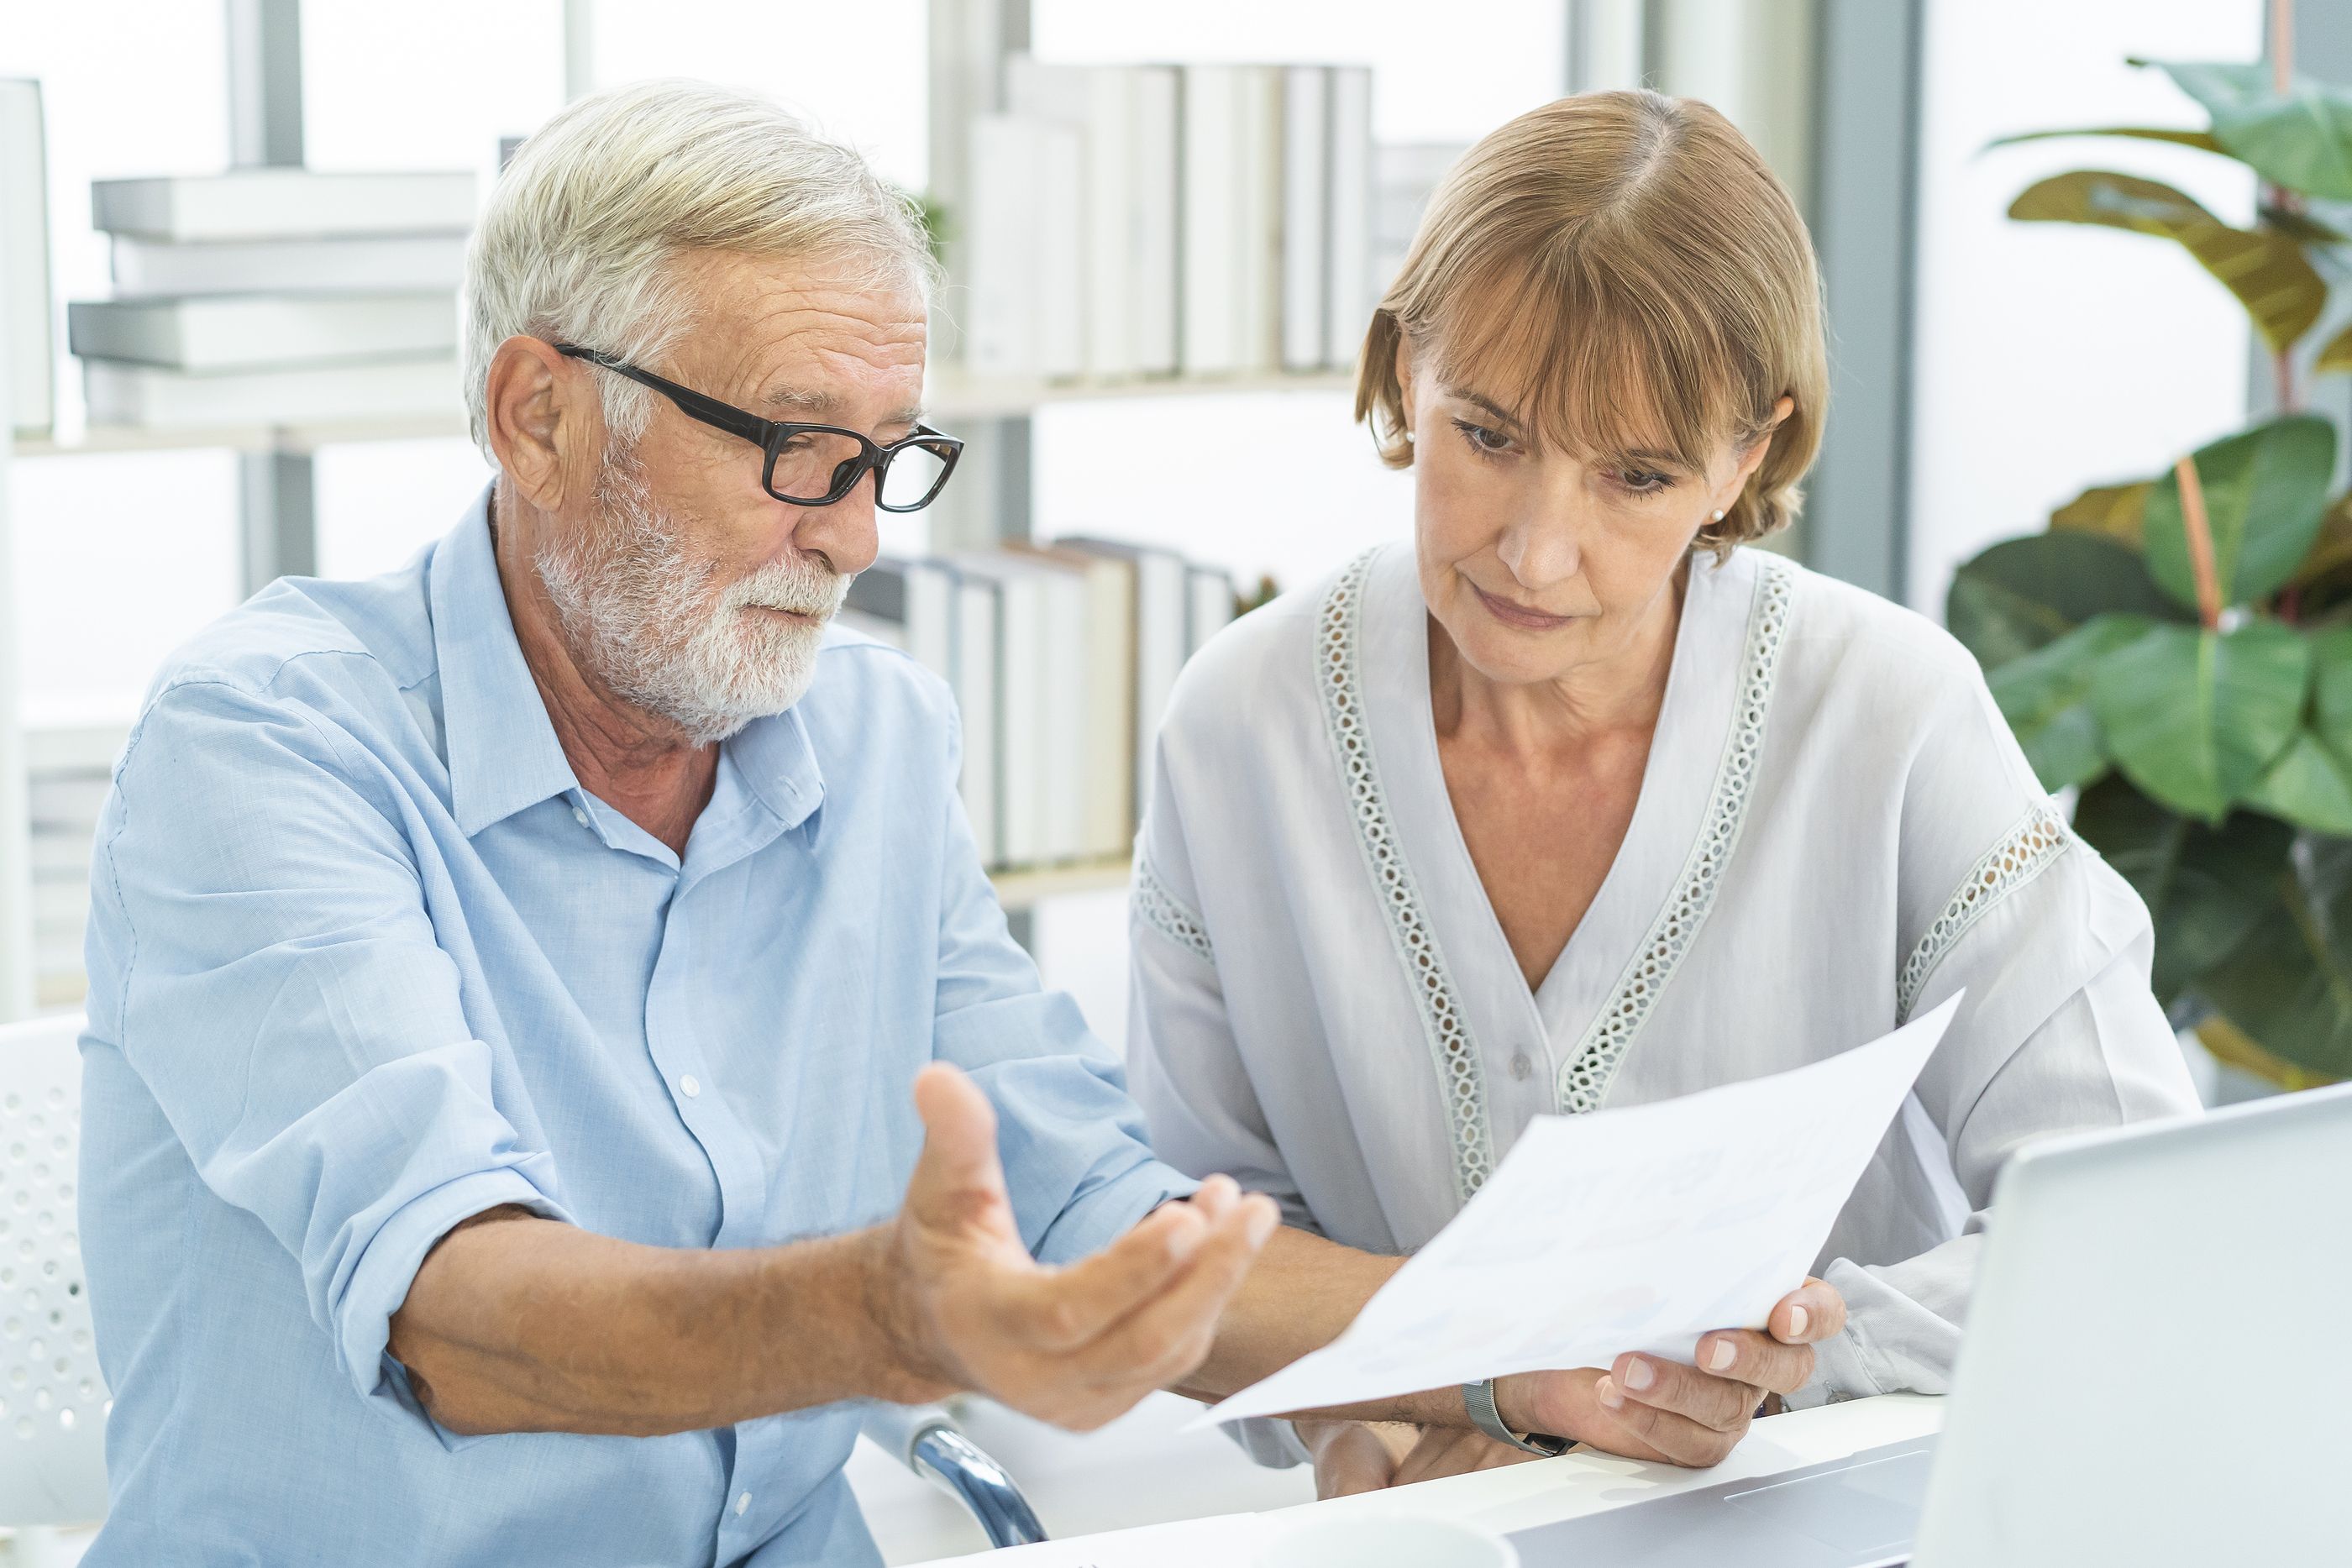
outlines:
[[[1926,1436],[1940,1427],[1940,1399],[1886,1394],[1882,1399],[1853,1399],[1849,1403],[1759,1420],[1750,1427],[1748,1439],[1731,1450],[1731,1458],[1715,1469],[1675,1469],[1672,1465],[1642,1465],[1602,1453],[1571,1453],[1557,1460],[1482,1469],[1470,1476],[1446,1476],[1444,1481],[1423,1481],[1421,1486],[1399,1486],[1385,1493],[1362,1493],[1331,1502],[1308,1502],[1265,1514],[1232,1514],[1223,1521],[1115,1530],[1073,1542],[1044,1542],[936,1561],[953,1561],[967,1568],[1047,1568],[1049,1563],[1120,1568],[1122,1563],[1183,1561],[1209,1549],[1247,1549],[1254,1540],[1291,1528],[1308,1509],[1324,1514],[1341,1509],[1352,1514],[1423,1514],[1510,1533],[1557,1519],[1578,1519],[1583,1514],[1599,1514],[1602,1509],[1642,1505],[1653,1497],[1717,1486],[1719,1481],[1745,1481],[1825,1460],[1842,1460],[1849,1453]],[[1077,1542],[1084,1542],[1084,1547],[1073,1552]],[[1240,1561],[1232,1568],[1240,1568]]]

